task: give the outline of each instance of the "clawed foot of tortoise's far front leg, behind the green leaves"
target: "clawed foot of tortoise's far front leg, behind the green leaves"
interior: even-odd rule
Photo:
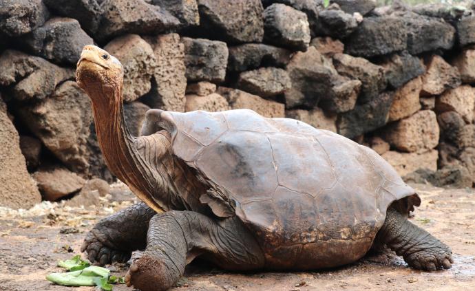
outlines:
[[[87,252],[87,259],[92,262],[97,261],[101,266],[115,261],[125,263],[129,261],[132,254],[131,252],[116,250],[106,246],[94,234],[94,230],[87,233],[81,246],[81,252]]]

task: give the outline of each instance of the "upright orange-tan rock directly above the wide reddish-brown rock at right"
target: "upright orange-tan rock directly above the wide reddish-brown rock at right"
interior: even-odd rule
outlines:
[[[414,78],[406,83],[403,87],[394,92],[394,100],[392,100],[389,109],[389,121],[400,120],[412,116],[421,109],[419,102],[419,93],[422,89],[421,77]]]

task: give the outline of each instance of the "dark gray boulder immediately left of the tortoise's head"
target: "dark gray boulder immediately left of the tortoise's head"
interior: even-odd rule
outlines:
[[[72,18],[54,17],[21,39],[37,56],[54,63],[76,65],[85,45],[94,44],[93,39]]]

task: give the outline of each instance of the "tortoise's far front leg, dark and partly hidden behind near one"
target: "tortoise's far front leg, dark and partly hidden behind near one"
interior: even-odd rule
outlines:
[[[125,263],[132,251],[145,249],[149,222],[154,215],[153,209],[140,202],[101,219],[87,233],[81,252],[87,252],[89,261],[101,265]]]

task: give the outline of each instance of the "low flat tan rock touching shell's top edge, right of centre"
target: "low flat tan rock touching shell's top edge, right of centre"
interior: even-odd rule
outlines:
[[[301,120],[317,129],[337,132],[337,115],[326,113],[318,107],[313,110],[288,110],[286,111],[286,117]]]

